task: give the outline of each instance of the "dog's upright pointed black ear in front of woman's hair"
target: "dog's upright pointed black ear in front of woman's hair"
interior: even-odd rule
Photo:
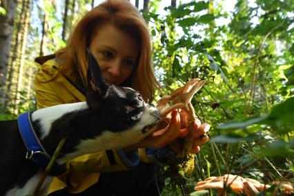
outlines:
[[[88,53],[88,90],[87,90],[87,103],[92,108],[99,106],[99,101],[106,95],[109,85],[102,78],[101,69],[95,57],[87,48]]]

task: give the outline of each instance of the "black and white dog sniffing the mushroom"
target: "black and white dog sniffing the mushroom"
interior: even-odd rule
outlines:
[[[107,84],[89,53],[86,102],[36,110],[28,124],[47,155],[67,139],[56,164],[64,165],[87,153],[115,149],[143,139],[159,121],[159,111],[146,104],[139,92]],[[17,120],[0,121],[0,195],[32,195],[43,170],[30,159]],[[37,152],[38,153],[38,152]],[[52,176],[46,177],[40,195],[46,195]]]

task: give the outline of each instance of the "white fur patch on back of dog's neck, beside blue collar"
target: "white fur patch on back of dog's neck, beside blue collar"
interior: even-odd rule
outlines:
[[[61,104],[49,108],[42,108],[32,113],[32,121],[39,120],[41,124],[41,137],[43,139],[49,134],[51,124],[66,113],[84,110],[88,108],[86,101],[74,104]]]

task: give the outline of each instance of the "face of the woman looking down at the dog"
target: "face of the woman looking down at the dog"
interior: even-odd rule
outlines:
[[[101,24],[90,42],[90,51],[110,84],[119,85],[133,71],[139,55],[139,43],[128,32],[110,23]]]

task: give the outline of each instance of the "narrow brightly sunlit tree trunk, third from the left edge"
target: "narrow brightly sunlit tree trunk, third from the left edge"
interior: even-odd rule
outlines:
[[[26,56],[26,43],[27,43],[27,36],[28,36],[28,25],[30,23],[30,0],[27,1],[25,6],[25,23],[23,26],[23,37],[22,37],[22,43],[21,43],[21,59],[19,62],[19,78],[17,81],[17,90],[15,95],[15,104],[14,104],[14,115],[18,115],[19,113],[19,103],[21,99],[21,88],[22,88],[22,80],[23,80],[23,66],[24,66],[24,58]]]

